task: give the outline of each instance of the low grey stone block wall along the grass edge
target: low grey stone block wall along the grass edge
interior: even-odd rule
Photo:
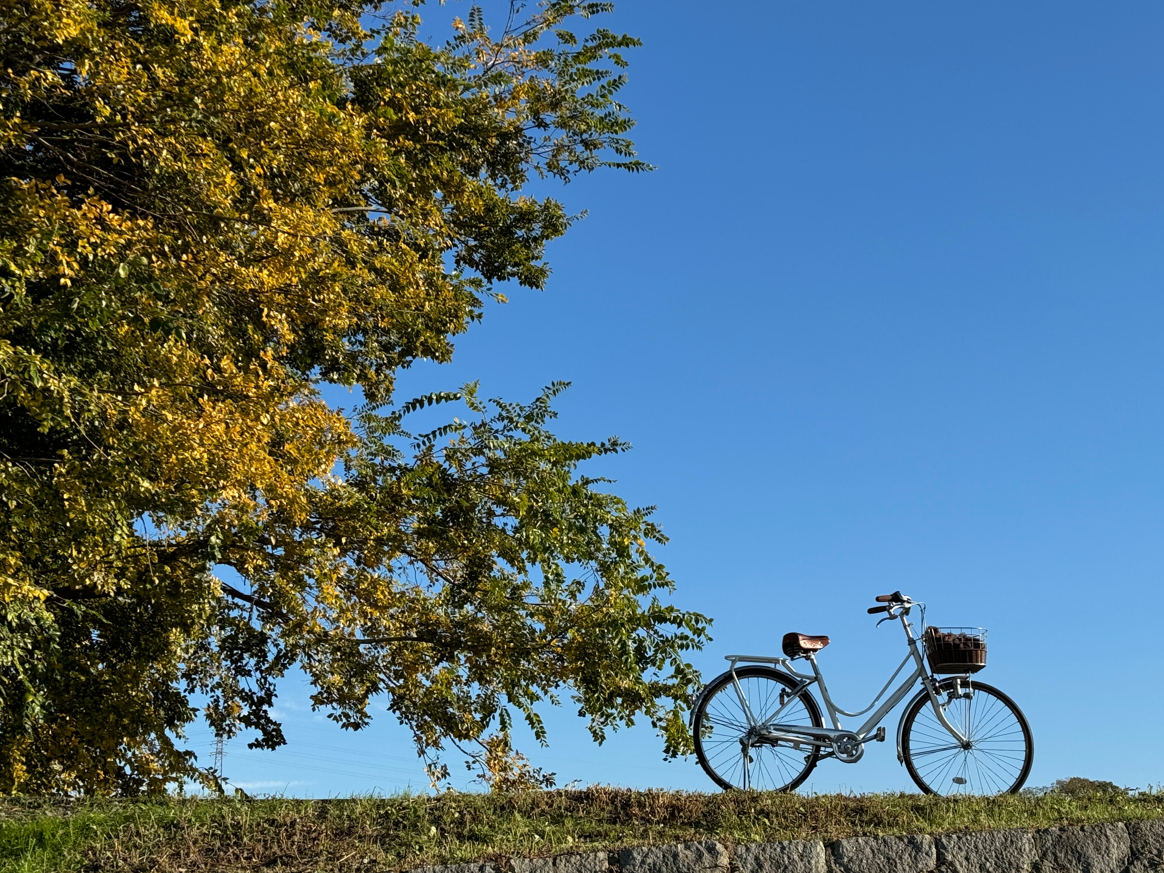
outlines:
[[[1162,867],[1164,819],[832,843],[750,843],[734,850],[707,840],[512,858],[508,865],[509,873],[1155,873]],[[414,873],[502,873],[502,868],[459,864]]]

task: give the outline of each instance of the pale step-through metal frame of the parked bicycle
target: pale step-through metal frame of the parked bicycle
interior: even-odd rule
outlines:
[[[968,747],[968,741],[963,733],[954,728],[945,717],[945,710],[938,698],[938,683],[936,680],[931,679],[929,672],[925,669],[925,658],[918,645],[917,637],[914,636],[914,626],[907,619],[909,610],[913,603],[903,604],[890,604],[886,610],[888,612],[888,618],[897,618],[901,620],[901,626],[906,632],[906,640],[909,645],[909,653],[906,659],[901,662],[893,675],[889,676],[889,681],[885,683],[885,687],[878,691],[876,697],[870,703],[865,709],[857,712],[846,712],[832,702],[832,697],[829,694],[829,688],[824,683],[824,676],[821,674],[821,667],[816,662],[816,658],[811,652],[803,655],[803,658],[812,666],[812,674],[805,674],[797,672],[792,666],[790,658],[769,658],[765,655],[726,655],[726,660],[731,662],[730,673],[732,677],[732,686],[736,689],[736,695],[739,697],[740,707],[744,710],[744,715],[747,718],[748,731],[740,738],[740,751],[744,758],[744,783],[748,787],[751,783],[748,774],[748,761],[751,755],[747,753],[748,747],[758,745],[767,745],[773,743],[790,743],[794,747],[799,748],[801,745],[815,746],[818,748],[831,750],[829,757],[835,757],[837,760],[845,764],[856,764],[861,759],[865,753],[865,743],[872,737],[876,740],[885,739],[885,729],[878,730],[878,725],[881,719],[889,714],[889,711],[896,707],[902,698],[909,694],[914,688],[914,683],[917,680],[922,681],[922,686],[925,693],[929,695],[930,705],[934,708],[934,715],[937,717],[938,722],[950,731],[950,736],[953,737],[954,741],[959,745]],[[893,681],[899,676],[899,674],[906,668],[910,659],[914,661],[913,672],[902,681],[902,683],[894,689],[893,694],[886,697],[885,702],[878,707],[876,711],[868,717],[868,719],[858,728],[856,731],[845,730],[840,726],[839,716],[845,716],[847,718],[857,718],[863,716],[876,705],[876,702],[881,700]],[[761,714],[761,717],[757,717],[752,712],[752,708],[748,705],[747,697],[744,695],[744,689],[740,688],[739,680],[736,677],[736,665],[737,663],[772,663],[782,667],[790,676],[799,681],[796,688],[782,691],[780,695],[780,707],[771,715]],[[965,690],[963,690],[961,681],[966,682]],[[809,725],[801,724],[781,724],[779,722],[781,712],[783,712],[788,705],[797,700],[802,691],[805,691],[812,684],[816,684],[821,689],[821,697],[824,700],[825,709],[829,712],[829,721],[832,728],[812,728]],[[963,696],[972,694],[972,687],[968,676],[965,680],[958,680],[957,690],[953,696]],[[907,708],[908,709],[908,708]],[[904,729],[906,716],[902,714],[901,722],[897,724],[897,760],[902,760],[902,748],[901,748],[901,737],[902,730]]]

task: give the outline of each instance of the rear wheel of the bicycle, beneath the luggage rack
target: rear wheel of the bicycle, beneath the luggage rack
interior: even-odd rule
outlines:
[[[695,737],[695,755],[700,766],[711,781],[724,790],[751,788],[758,790],[790,792],[800,786],[809,773],[816,767],[821,758],[818,746],[801,746],[794,748],[793,744],[762,744],[751,746],[748,754],[747,778],[744,778],[745,768],[743,762],[743,745],[740,738],[746,731],[746,722],[732,719],[732,709],[743,712],[739,697],[731,681],[732,674],[729,670],[716,676],[708,683],[703,694],[700,695],[695,715],[691,719],[691,729]],[[776,705],[772,703],[773,695],[779,698],[778,688],[793,690],[800,682],[787,673],[781,673],[772,667],[752,666],[740,667],[736,670],[740,688],[745,691],[745,697],[750,705],[753,702],[762,711],[773,712]],[[774,683],[774,684],[766,684]],[[725,696],[725,693],[730,697]],[[799,707],[797,707],[799,704]],[[753,708],[754,711],[754,708]],[[796,703],[781,716],[785,724],[807,724],[814,728],[823,728],[824,719],[821,717],[821,708],[808,689],[796,695]],[[721,736],[717,736],[717,729]],[[741,730],[743,729],[743,730]],[[734,731],[734,734],[733,734]],[[738,746],[737,762],[731,762],[733,751],[732,743]],[[805,754],[803,750],[808,750]],[[801,762],[797,764],[797,760]]]

